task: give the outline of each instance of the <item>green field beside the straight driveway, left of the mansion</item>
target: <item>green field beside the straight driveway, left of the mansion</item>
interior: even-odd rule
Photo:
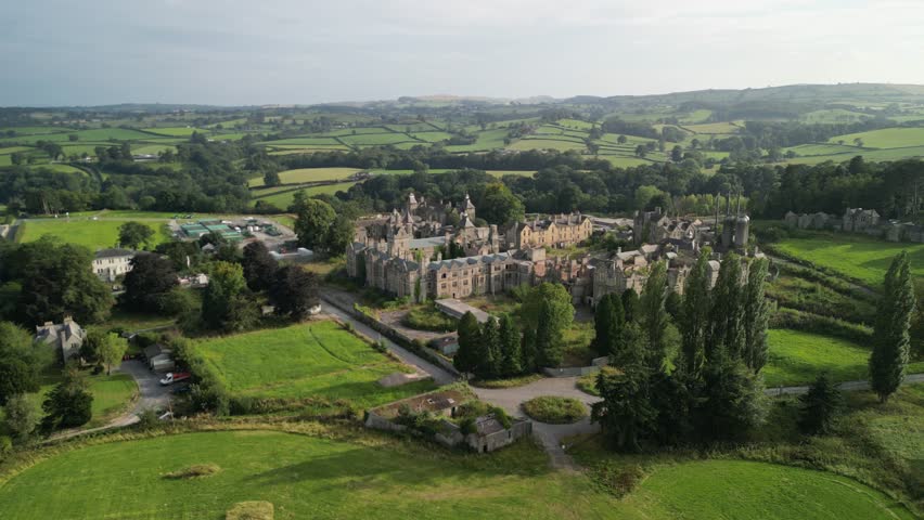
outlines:
[[[433,388],[431,381],[382,388],[384,376],[410,368],[376,352],[334,322],[317,322],[203,340],[198,351],[234,394],[348,399],[362,406]]]

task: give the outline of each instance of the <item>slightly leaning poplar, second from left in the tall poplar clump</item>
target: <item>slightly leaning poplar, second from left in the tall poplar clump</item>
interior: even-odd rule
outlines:
[[[680,334],[683,363],[688,374],[696,377],[706,361],[706,337],[709,332],[709,249],[703,249],[700,258],[686,276],[683,288],[683,306]]]

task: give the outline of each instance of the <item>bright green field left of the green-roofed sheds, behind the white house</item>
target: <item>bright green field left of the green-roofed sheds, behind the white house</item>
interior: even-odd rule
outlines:
[[[33,242],[43,235],[51,235],[61,242],[86,246],[91,250],[104,249],[116,246],[118,227],[129,220],[89,220],[76,217],[72,217],[69,221],[63,217],[60,219],[26,220],[21,225],[16,239],[18,242]],[[144,224],[154,230],[155,244],[169,239],[163,225],[150,222]]]

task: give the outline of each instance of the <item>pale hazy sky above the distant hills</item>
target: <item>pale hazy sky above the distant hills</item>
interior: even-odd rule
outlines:
[[[3,0],[0,106],[924,83],[921,0]]]

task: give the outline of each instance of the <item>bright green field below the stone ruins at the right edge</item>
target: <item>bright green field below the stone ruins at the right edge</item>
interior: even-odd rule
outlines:
[[[807,232],[805,237],[785,238],[774,247],[872,287],[882,285],[893,258],[907,250],[912,273],[924,276],[924,244],[898,244],[848,233]]]

